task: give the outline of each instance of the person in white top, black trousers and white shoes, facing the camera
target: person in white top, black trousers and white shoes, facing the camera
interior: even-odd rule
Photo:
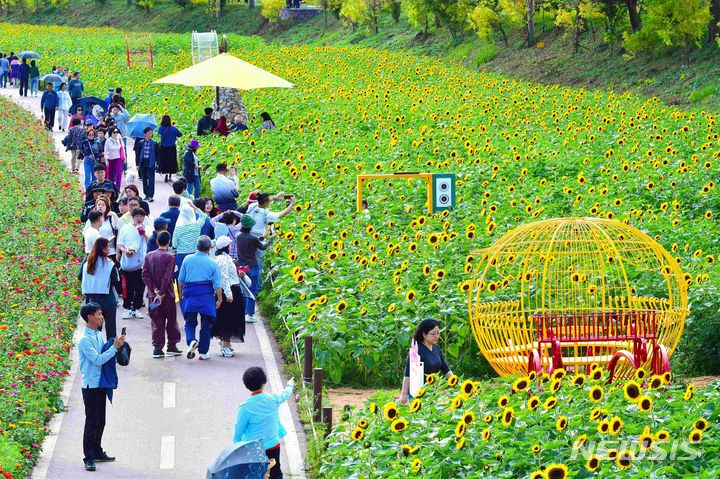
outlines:
[[[121,253],[120,268],[122,268],[124,283],[122,319],[142,319],[140,308],[143,305],[145,283],[142,280],[142,266],[147,251],[148,231],[143,222],[145,210],[135,208],[132,211],[132,223],[126,224],[120,230],[117,240],[117,249]]]

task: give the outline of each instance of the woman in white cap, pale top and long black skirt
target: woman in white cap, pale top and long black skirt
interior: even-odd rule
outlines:
[[[245,342],[245,301],[240,288],[244,272],[238,274],[237,267],[230,257],[232,240],[221,236],[215,242],[215,261],[220,268],[222,304],[217,310],[217,318],[212,326],[212,336],[220,339],[220,356],[230,358],[235,355],[230,340],[233,337]]]

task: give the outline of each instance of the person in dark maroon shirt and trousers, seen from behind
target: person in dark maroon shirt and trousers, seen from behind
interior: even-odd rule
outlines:
[[[182,351],[177,348],[177,344],[181,337],[173,287],[175,256],[168,250],[170,233],[161,232],[157,237],[157,244],[158,249],[145,257],[142,269],[142,280],[147,287],[147,297],[150,301],[148,314],[152,328],[153,358],[163,358],[166,354],[180,356]],[[163,352],[166,334],[167,350]]]

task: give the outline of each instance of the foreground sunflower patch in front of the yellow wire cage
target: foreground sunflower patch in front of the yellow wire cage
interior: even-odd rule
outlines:
[[[720,474],[720,382],[672,375],[607,385],[587,374],[491,382],[431,376],[407,405],[378,394],[329,436],[321,477],[712,478]]]

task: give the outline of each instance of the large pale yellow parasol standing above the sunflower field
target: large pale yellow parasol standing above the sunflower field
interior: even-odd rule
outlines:
[[[238,90],[293,87],[289,81],[227,53],[221,53],[209,60],[155,80],[153,83],[215,86]]]

